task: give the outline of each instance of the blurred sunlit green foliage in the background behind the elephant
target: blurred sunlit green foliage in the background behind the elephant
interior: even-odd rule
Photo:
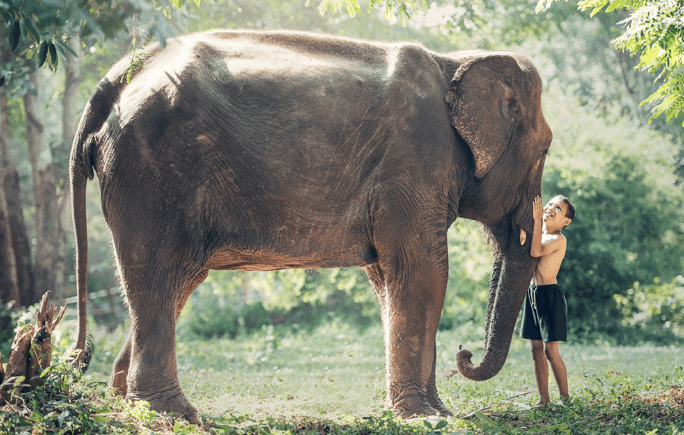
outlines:
[[[350,17],[344,9],[321,16],[314,0],[207,0],[182,6],[180,31],[214,28],[293,29],[353,38],[411,40],[439,52],[511,49],[530,56],[544,81],[543,106],[554,140],[546,160],[544,200],[562,193],[577,207],[565,231],[566,259],[559,284],[568,296],[572,340],[669,342],[684,339],[684,186],[681,119],[651,124],[653,76],[610,44],[621,33],[621,10],[590,18],[573,1],[541,14],[536,1],[454,0],[418,3],[406,26],[390,24],[384,10]],[[145,23],[81,39],[78,119],[97,81],[131,48]],[[6,38],[2,44],[6,44]],[[139,40],[138,40],[139,43]],[[42,70],[40,101],[45,141],[63,185],[67,152],[60,139],[65,73]],[[18,75],[18,74],[17,74]],[[34,190],[27,156],[22,95],[28,81],[3,89],[8,100],[9,150],[22,192]],[[23,87],[22,87],[23,86]],[[22,196],[31,249],[35,204]],[[61,215],[70,228],[68,215]],[[61,296],[74,295],[73,242],[67,231]],[[470,324],[484,338],[491,274],[479,224],[457,220],[448,232],[450,279],[440,329]],[[115,328],[125,318],[109,230],[100,212],[97,181],[88,184],[88,290],[96,322]],[[8,300],[3,300],[7,303]],[[23,305],[28,305],[24,303]],[[266,324],[315,326],[326,319],[360,326],[379,323],[379,305],[362,269],[276,272],[212,271],[193,293],[177,324],[180,334],[235,336]]]

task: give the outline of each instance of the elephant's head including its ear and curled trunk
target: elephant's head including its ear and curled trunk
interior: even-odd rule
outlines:
[[[483,223],[494,255],[487,310],[485,354],[457,355],[468,379],[490,379],[503,367],[536,258],[530,255],[532,199],[541,195],[541,174],[551,132],[541,112],[541,79],[525,57],[506,52],[466,52],[445,101],[450,120],[472,152],[472,186],[459,216]]]

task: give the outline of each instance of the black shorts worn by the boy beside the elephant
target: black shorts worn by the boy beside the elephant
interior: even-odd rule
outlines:
[[[557,284],[530,284],[523,303],[520,338],[568,341],[568,303]]]

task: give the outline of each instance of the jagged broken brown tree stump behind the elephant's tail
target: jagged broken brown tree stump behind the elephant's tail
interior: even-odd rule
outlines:
[[[11,399],[17,381],[17,393],[25,388],[33,390],[42,386],[40,374],[49,367],[52,359],[52,331],[64,316],[67,307],[65,303],[57,313],[54,303],[48,303],[48,293],[42,296],[35,325],[28,325],[17,332],[4,370],[0,356],[0,404]]]

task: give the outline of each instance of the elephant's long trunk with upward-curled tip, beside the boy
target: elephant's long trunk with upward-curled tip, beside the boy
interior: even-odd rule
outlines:
[[[505,253],[495,254],[482,362],[474,365],[471,361],[472,352],[468,349],[459,347],[459,353],[456,354],[459,372],[473,381],[486,381],[504,366],[520,306],[523,305],[536,267],[536,258],[532,258],[527,251],[520,255],[522,247],[519,242],[507,246],[509,248]]]

